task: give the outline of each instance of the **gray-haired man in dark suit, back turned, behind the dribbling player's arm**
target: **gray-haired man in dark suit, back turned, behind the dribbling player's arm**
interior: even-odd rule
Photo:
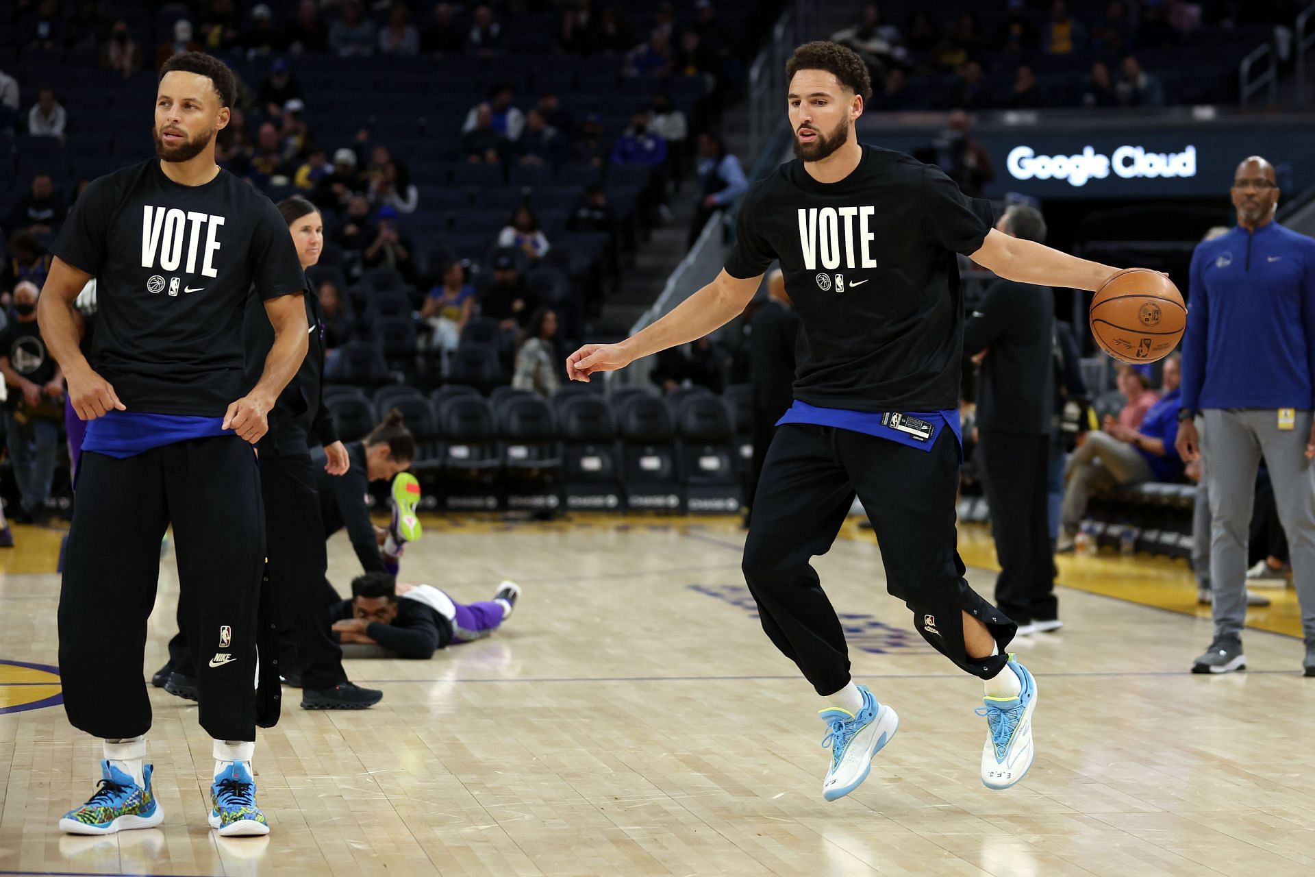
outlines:
[[[1015,204],[995,226],[1045,242],[1045,220]],[[964,355],[981,360],[977,430],[1001,573],[995,605],[1020,632],[1057,630],[1047,500],[1055,417],[1055,291],[997,279],[964,323]]]

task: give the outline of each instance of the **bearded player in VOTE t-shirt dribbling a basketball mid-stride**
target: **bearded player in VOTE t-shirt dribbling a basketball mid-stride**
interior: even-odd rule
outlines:
[[[969,589],[955,550],[964,313],[955,254],[1038,285],[1097,289],[1115,270],[995,231],[990,205],[936,167],[859,143],[871,85],[851,50],[800,46],[786,76],[800,160],[748,193],[725,270],[633,338],[581,347],[568,373],[589,380],[706,335],[740,313],[780,259],[803,338],[796,402],[767,454],[743,567],[763,628],[826,705],[823,797],[856,789],[898,724],[851,680],[844,632],[809,565],[830,550],[855,492],[890,593],[928,643],[986,681],[981,777],[1006,789],[1034,759],[1036,682],[1003,653],[1015,625]]]

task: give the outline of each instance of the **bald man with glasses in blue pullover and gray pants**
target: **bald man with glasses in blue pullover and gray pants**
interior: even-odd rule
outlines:
[[[1274,168],[1237,166],[1237,225],[1191,256],[1178,452],[1206,456],[1215,639],[1193,673],[1247,667],[1247,540],[1264,456],[1291,544],[1306,676],[1315,676],[1315,241],[1274,222]],[[1201,418],[1201,431],[1195,418]]]

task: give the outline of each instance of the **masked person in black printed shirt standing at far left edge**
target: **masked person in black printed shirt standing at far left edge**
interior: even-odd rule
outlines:
[[[59,363],[46,350],[37,323],[39,288],[24,280],[13,289],[13,313],[0,331],[0,373],[11,387],[5,404],[5,431],[14,480],[22,496],[20,523],[45,523],[46,500],[59,450],[59,423],[64,417],[64,379]]]

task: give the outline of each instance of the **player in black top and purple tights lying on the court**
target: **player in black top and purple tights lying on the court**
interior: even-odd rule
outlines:
[[[504,581],[493,600],[463,605],[431,585],[398,584],[383,572],[351,582],[351,600],[329,609],[342,644],[383,646],[400,657],[433,657],[439,648],[488,636],[512,617],[521,586]]]

